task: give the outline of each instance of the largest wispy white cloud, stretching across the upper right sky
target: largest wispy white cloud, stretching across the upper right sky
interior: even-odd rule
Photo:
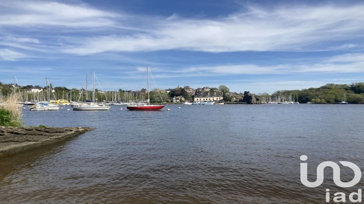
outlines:
[[[63,51],[84,55],[169,49],[206,52],[325,50],[335,42],[362,37],[363,10],[364,5],[249,7],[246,12],[217,19],[151,18],[145,19],[148,23],[142,25],[148,33],[84,38]],[[355,46],[344,43],[336,49]]]

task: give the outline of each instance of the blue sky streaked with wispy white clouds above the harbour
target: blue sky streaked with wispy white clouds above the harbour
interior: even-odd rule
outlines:
[[[364,1],[0,0],[0,82],[273,93],[364,81]],[[99,86],[97,83],[97,86]],[[91,85],[91,84],[89,84]]]

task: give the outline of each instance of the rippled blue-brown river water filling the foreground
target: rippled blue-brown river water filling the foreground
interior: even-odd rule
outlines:
[[[335,187],[330,170],[323,185],[305,187],[299,156],[309,158],[309,178],[323,161],[364,170],[364,105],[179,106],[24,110],[26,125],[97,129],[0,158],[0,202],[324,203],[327,187],[363,187]]]

